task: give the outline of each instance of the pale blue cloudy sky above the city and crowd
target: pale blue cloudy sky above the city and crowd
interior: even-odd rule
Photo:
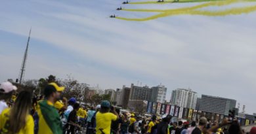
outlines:
[[[0,80],[17,78],[30,27],[26,79],[50,74],[100,88],[123,84],[171,90],[192,88],[206,95],[236,99],[256,112],[256,13],[238,16],[169,16],[147,22],[108,18],[152,13],[117,12],[122,1],[2,1]],[[127,8],[178,8],[125,5]],[[216,10],[215,8],[210,8]]]

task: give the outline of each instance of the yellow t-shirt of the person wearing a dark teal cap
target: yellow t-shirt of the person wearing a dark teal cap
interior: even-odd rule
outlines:
[[[117,116],[112,114],[111,112],[106,112],[102,114],[101,112],[96,113],[96,134],[101,134],[102,132],[105,134],[110,134],[111,122],[117,120]]]

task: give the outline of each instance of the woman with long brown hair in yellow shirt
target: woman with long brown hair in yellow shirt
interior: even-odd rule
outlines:
[[[33,134],[33,117],[29,114],[32,93],[22,91],[18,94],[12,108],[3,110],[0,115],[0,133]]]

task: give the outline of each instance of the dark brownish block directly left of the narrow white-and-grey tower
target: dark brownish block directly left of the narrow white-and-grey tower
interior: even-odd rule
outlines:
[[[148,86],[134,86],[131,84],[131,92],[129,100],[144,100],[144,101],[153,101],[152,100],[152,89]]]

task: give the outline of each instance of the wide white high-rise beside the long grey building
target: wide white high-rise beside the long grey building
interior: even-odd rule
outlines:
[[[171,105],[177,105],[179,107],[195,109],[198,93],[193,92],[191,89],[173,90],[171,93]]]

